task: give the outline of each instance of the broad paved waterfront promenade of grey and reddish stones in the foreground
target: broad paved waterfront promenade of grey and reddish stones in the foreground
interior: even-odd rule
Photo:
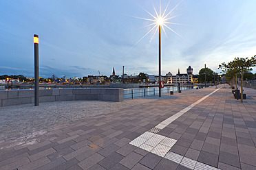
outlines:
[[[0,108],[0,169],[256,169],[256,90]]]

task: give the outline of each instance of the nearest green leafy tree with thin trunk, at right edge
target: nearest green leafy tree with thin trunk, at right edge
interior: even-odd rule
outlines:
[[[244,72],[252,71],[252,67],[256,66],[256,55],[249,58],[235,58],[226,64],[223,62],[218,69],[222,69],[224,73],[241,73],[241,102],[243,102],[243,80]],[[237,80],[235,80],[237,81]]]

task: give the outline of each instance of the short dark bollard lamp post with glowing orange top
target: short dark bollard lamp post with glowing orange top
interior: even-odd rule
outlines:
[[[39,36],[34,34],[34,106],[39,106]]]

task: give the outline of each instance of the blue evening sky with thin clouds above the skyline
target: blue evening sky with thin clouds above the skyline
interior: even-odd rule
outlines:
[[[169,1],[162,0],[162,8]],[[167,11],[180,1],[171,0]],[[0,1],[0,75],[34,77],[33,35],[39,35],[39,75],[158,74],[158,34],[145,27],[157,0],[15,0]],[[162,32],[162,75],[204,62],[212,70],[235,57],[256,54],[256,1],[184,0],[168,25],[182,37]],[[138,44],[136,44],[138,42]],[[136,44],[134,46],[134,44]],[[133,47],[134,46],[134,47]],[[255,73],[255,69],[253,73]]]

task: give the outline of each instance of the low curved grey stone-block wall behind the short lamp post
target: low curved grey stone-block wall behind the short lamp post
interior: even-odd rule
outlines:
[[[39,103],[47,101],[101,100],[123,101],[122,88],[60,88],[39,89]],[[34,89],[0,91],[0,107],[34,104]]]

